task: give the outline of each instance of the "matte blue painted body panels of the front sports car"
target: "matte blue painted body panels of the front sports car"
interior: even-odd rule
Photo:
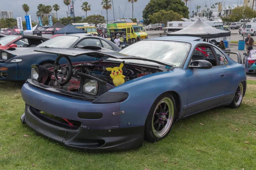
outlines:
[[[216,106],[229,105],[239,83],[246,81],[244,65],[234,62],[224,54],[228,60],[227,65],[216,66],[207,70],[188,68],[194,49],[198,45],[206,43],[189,40],[177,41],[189,42],[192,45],[182,68],[148,74],[125,82],[125,84],[109,91],[127,92],[129,96],[123,102],[108,105],[92,104],[91,102],[52,94],[27,83],[23,85],[21,90],[23,99],[34,108],[55,116],[65,116],[67,119],[77,120],[78,111],[102,112],[104,116],[107,114],[108,119],[103,116],[100,120],[83,120],[84,125],[90,125],[93,128],[144,125],[157,97],[170,91],[179,96],[179,119]],[[33,97],[36,98],[36,101],[33,100]],[[42,100],[47,105],[42,104]],[[116,118],[111,115],[113,111],[125,111],[125,113]]]

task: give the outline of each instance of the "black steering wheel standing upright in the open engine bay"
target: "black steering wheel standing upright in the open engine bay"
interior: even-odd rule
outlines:
[[[65,58],[68,62],[68,67],[61,67],[60,65],[58,65],[58,62],[61,58]],[[55,77],[55,79],[57,80],[57,82],[63,86],[65,84],[67,84],[70,79],[72,78],[72,74],[73,74],[73,71],[72,71],[72,63],[70,61],[70,58],[67,57],[67,56],[59,56],[57,59],[55,59],[55,62],[54,62],[54,65],[53,65],[53,75]],[[61,70],[61,72],[59,72],[59,70]],[[58,78],[58,74],[62,73],[61,75],[61,79]],[[64,80],[64,77],[67,76],[66,80]]]

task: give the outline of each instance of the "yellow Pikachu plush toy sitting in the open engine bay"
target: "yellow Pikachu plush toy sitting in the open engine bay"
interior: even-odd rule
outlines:
[[[125,83],[125,76],[122,75],[122,67],[124,66],[124,61],[120,64],[119,67],[106,68],[107,71],[111,71],[110,77],[113,79],[114,85],[122,85]]]

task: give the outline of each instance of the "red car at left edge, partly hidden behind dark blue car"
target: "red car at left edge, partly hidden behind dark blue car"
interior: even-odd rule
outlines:
[[[0,39],[0,49],[36,46],[47,40],[49,39],[30,35],[7,35]]]

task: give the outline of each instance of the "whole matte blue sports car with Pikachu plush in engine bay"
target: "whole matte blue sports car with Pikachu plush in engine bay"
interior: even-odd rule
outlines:
[[[195,113],[239,108],[244,65],[199,39],[143,40],[119,53],[37,49],[59,57],[50,69],[32,65],[21,90],[21,122],[75,150],[112,151],[163,139],[177,120]],[[70,62],[81,55],[94,61]]]

